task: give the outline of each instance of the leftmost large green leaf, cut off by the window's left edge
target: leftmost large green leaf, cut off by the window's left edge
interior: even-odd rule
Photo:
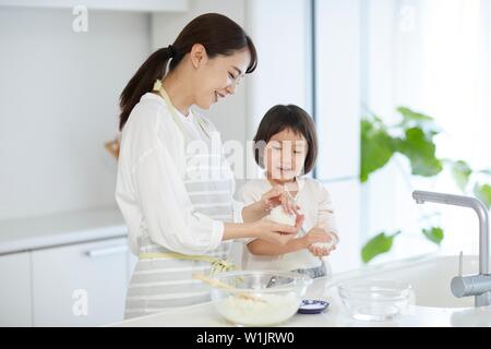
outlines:
[[[383,125],[380,119],[374,123],[367,119],[361,120],[360,182],[362,183],[368,180],[370,173],[384,167],[394,154],[393,139],[381,124]]]

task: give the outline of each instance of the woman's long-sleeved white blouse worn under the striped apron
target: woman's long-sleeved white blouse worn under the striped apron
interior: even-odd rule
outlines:
[[[139,254],[139,238],[143,234],[183,254],[213,251],[220,245],[224,234],[224,222],[196,212],[190,201],[183,181],[184,136],[170,108],[181,119],[181,128],[196,136],[200,134],[195,132],[200,127],[197,118],[203,117],[192,111],[185,117],[153,93],[142,96],[122,132],[116,201],[134,254]],[[233,221],[242,222],[243,204],[235,201],[231,204]]]

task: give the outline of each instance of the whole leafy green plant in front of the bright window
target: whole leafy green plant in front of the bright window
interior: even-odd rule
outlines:
[[[408,159],[412,176],[432,178],[447,169],[464,194],[468,194],[471,186],[474,195],[490,208],[491,185],[482,181],[482,176],[491,176],[491,171],[475,171],[460,159],[438,158],[434,136],[441,132],[441,128],[434,119],[407,107],[398,107],[397,111],[400,120],[394,124],[385,123],[372,112],[361,119],[360,182],[366,183],[370,176],[386,166],[395,154],[400,154]],[[361,249],[362,261],[368,263],[376,255],[388,252],[394,238],[400,232],[381,231],[375,234]],[[431,225],[423,227],[421,233],[436,244],[444,238],[443,229]]]

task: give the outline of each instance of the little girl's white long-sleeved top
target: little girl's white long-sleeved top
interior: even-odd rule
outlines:
[[[295,197],[306,216],[303,229],[308,232],[313,227],[324,228],[326,231],[337,232],[334,208],[331,195],[325,186],[311,178],[298,178],[299,191]],[[267,179],[255,179],[247,182],[241,189],[241,196],[246,205],[261,201],[261,196],[272,189]],[[270,219],[266,216],[264,219]],[[299,231],[297,238],[301,237]],[[247,244],[253,239],[246,239]],[[242,253],[242,268],[244,269],[279,269],[295,270],[311,268],[322,264],[322,260],[312,255],[307,249],[284,254],[283,256],[253,255],[244,244]]]

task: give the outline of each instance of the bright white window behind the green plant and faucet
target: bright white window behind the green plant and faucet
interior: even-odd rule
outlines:
[[[490,168],[489,1],[367,1],[362,17],[362,101],[386,120],[395,120],[396,106],[433,117],[444,130],[435,139],[438,157],[464,159],[474,169]],[[411,189],[460,194],[451,177],[405,178],[398,168],[404,171],[405,165],[400,159],[391,164],[363,189],[367,236],[380,230],[407,232],[390,258],[432,251],[435,246],[421,236],[419,220],[440,212],[432,222],[446,232],[443,246],[476,251],[478,225],[471,210],[420,206],[411,200]]]

